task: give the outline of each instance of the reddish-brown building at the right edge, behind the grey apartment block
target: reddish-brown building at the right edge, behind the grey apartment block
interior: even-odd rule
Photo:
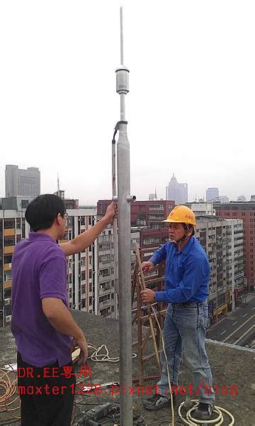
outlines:
[[[214,203],[213,207],[219,217],[244,221],[244,268],[247,288],[253,290],[255,282],[255,202]]]

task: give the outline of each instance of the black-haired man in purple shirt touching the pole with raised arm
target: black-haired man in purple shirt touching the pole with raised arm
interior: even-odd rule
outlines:
[[[69,312],[66,256],[79,253],[113,222],[111,203],[106,215],[88,231],[59,246],[67,213],[56,195],[40,195],[26,209],[33,232],[13,253],[11,331],[18,347],[18,392],[21,425],[69,426],[75,375],[71,354],[79,346],[79,362],[88,356],[84,332]]]

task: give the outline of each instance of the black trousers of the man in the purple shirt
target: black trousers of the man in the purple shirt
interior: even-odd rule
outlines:
[[[76,378],[72,361],[35,367],[17,355],[22,426],[70,426]]]

